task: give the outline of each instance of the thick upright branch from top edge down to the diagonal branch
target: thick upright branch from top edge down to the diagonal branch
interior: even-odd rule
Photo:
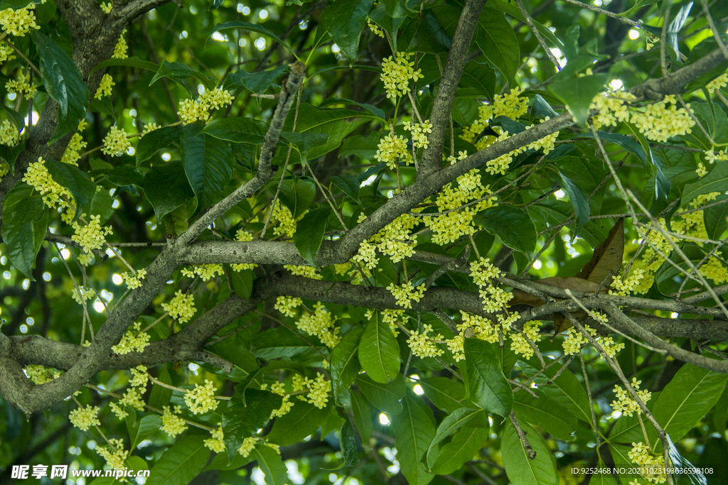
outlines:
[[[475,32],[480,12],[485,4],[486,0],[468,0],[460,14],[453,35],[452,47],[448,52],[448,60],[440,79],[438,95],[432,103],[432,114],[430,115],[432,133],[429,137],[430,144],[422,153],[419,174],[421,177],[427,177],[443,167],[443,145],[445,132],[450,122],[453,99],[460,83],[467,52],[470,49],[472,34]]]

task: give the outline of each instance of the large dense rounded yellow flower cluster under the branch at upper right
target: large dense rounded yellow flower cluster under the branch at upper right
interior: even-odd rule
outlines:
[[[662,101],[647,105],[644,111],[633,113],[630,121],[647,139],[665,143],[670,137],[685,135],[695,126],[685,108],[677,108],[674,95],[665,96]],[[690,108],[690,104],[686,105]]]

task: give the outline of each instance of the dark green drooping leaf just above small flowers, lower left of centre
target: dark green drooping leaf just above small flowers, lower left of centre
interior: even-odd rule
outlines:
[[[235,393],[223,411],[223,441],[227,449],[228,463],[237,454],[242,441],[258,433],[268,422],[271,412],[280,408],[283,398],[268,390],[246,389],[246,402],[243,404],[240,393]]]

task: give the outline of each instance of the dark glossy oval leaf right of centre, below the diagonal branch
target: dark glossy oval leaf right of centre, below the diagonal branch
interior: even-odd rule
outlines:
[[[498,205],[478,213],[472,220],[516,251],[528,254],[536,246],[536,228],[523,209]]]

